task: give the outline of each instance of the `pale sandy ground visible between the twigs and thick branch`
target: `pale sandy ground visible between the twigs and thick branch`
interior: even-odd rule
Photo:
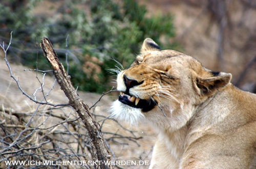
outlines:
[[[40,87],[40,83],[36,78],[35,71],[24,71],[24,69],[29,69],[21,65],[10,64],[12,67],[13,75],[19,80],[20,86],[26,91],[28,94],[33,95]],[[37,74],[38,79],[42,80],[42,74]],[[22,92],[17,88],[16,82],[10,77],[9,70],[3,60],[0,60],[0,106],[2,109],[13,109],[19,112],[27,112],[34,110],[37,107],[37,104],[33,103],[30,99],[22,94]],[[54,82],[54,78],[46,75],[44,79],[44,91],[48,93],[51,89]],[[86,101],[86,103],[90,106],[92,105],[98,98],[99,94],[88,93],[88,92],[80,92],[78,91],[79,96]],[[35,95],[38,100],[42,98],[40,90],[38,90]],[[51,91],[48,101],[52,103],[67,103],[68,99],[60,90],[57,83],[55,83],[53,90]],[[97,115],[109,115],[109,107],[113,99],[117,98],[117,96],[108,96],[105,95],[101,99],[101,101],[97,104],[94,113]],[[46,106],[41,106],[42,109],[46,108]],[[63,109],[62,111],[57,111],[59,114],[70,113],[69,109]],[[75,115],[76,112],[72,111],[72,114]],[[0,115],[3,115],[4,112],[0,111]],[[3,117],[3,116],[0,117]],[[18,121],[18,119],[17,119]],[[18,122],[17,122],[18,123]],[[51,126],[56,123],[56,120],[50,119],[46,126]],[[136,137],[142,136],[141,139],[137,140],[137,143],[131,142],[127,139],[123,139],[122,142],[124,144],[118,144],[116,142],[109,142],[111,149],[114,151],[116,155],[116,159],[119,160],[138,160],[143,159],[144,161],[149,161],[151,159],[152,149],[155,141],[156,134],[154,134],[153,130],[150,126],[146,124],[141,124],[138,127],[131,127],[129,124],[122,123],[127,129],[133,130]],[[114,133],[119,133],[125,136],[132,136],[129,131],[122,129],[117,123],[114,123],[111,120],[106,120],[102,131],[110,131]],[[108,138],[111,135],[105,134],[104,137]],[[127,145],[126,145],[127,144]],[[124,168],[147,168],[148,166],[124,166]]]

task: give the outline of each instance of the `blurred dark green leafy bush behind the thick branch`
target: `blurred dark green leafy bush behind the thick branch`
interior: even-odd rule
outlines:
[[[20,1],[23,2],[23,1]],[[10,54],[13,61],[38,68],[50,69],[36,43],[42,36],[49,37],[58,57],[65,62],[68,38],[69,74],[79,90],[102,92],[108,90],[112,79],[109,69],[119,62],[128,67],[139,52],[141,43],[151,37],[163,48],[175,47],[168,39],[174,37],[173,17],[170,14],[151,14],[146,17],[145,6],[134,0],[116,1],[63,1],[54,16],[33,14],[32,10],[43,1],[6,1],[0,4],[0,38],[5,40],[13,31]],[[83,6],[89,7],[85,11]],[[88,9],[88,8],[86,8]],[[54,10],[54,9],[48,9]],[[164,40],[162,43],[161,40]],[[31,50],[33,49],[33,50]],[[77,49],[79,49],[77,51]],[[120,67],[120,66],[119,66]]]

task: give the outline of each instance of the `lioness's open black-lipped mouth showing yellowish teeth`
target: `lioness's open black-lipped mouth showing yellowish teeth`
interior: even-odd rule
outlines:
[[[155,105],[157,105],[157,102],[152,99],[140,99],[129,94],[124,94],[123,92],[120,92],[118,100],[123,104],[129,105],[131,107],[141,108],[144,112],[152,110]]]

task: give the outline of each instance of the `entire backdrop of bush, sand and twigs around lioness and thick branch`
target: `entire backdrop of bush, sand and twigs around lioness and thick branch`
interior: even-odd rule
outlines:
[[[59,86],[54,87],[51,72],[23,71],[51,69],[38,45],[42,37],[50,39],[62,64],[69,67],[79,96],[89,106],[100,97],[95,93],[115,86],[116,74],[111,69],[121,68],[120,64],[129,67],[147,37],[162,49],[193,56],[208,69],[232,73],[234,85],[256,93],[256,1],[252,0],[0,0],[0,42],[7,45],[11,32],[13,39],[7,55],[13,74],[20,86],[38,100],[44,98],[43,90],[39,92],[42,79],[44,91],[50,93],[54,88],[49,94],[50,102],[68,102]],[[104,96],[91,109],[113,159],[150,160],[156,133],[148,124],[121,125],[108,118],[111,101],[116,98]],[[17,89],[0,50],[0,121],[4,119],[0,122],[0,149],[13,143],[28,121],[30,129],[38,124],[45,129],[29,130],[32,136],[23,140],[22,148],[53,138],[35,149],[33,155],[14,153],[3,157],[41,160],[44,154],[48,160],[91,159],[87,130],[71,107],[38,107]],[[30,116],[34,117],[32,121]],[[74,120],[67,123],[67,119]],[[10,151],[18,149],[12,147]],[[0,168],[6,167],[3,157]]]

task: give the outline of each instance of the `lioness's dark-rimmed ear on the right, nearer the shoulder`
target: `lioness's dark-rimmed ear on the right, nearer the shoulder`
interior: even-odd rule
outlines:
[[[196,77],[195,88],[200,95],[213,95],[217,90],[225,87],[232,75],[224,72],[210,72],[208,77]]]

